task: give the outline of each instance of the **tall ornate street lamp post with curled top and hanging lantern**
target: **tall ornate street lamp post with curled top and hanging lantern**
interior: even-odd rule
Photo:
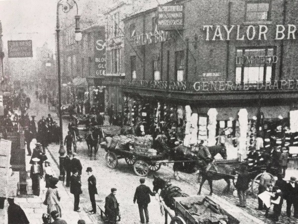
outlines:
[[[60,180],[65,177],[64,172],[64,158],[65,158],[65,149],[63,145],[63,123],[62,123],[62,114],[61,114],[61,67],[60,67],[60,22],[59,22],[59,7],[62,6],[62,11],[67,13],[69,12],[74,5],[76,6],[76,15],[75,18],[75,41],[80,41],[82,38],[82,34],[79,28],[79,18],[77,3],[75,0],[59,0],[57,3],[57,24],[56,24],[56,32],[57,32],[57,62],[58,62],[58,96],[59,96],[59,125],[60,125],[60,148],[59,148],[59,163],[60,163]]]

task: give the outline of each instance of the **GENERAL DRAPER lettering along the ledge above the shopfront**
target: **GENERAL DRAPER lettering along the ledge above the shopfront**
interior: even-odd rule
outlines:
[[[237,90],[298,90],[298,80],[257,82],[255,84],[224,81],[195,82],[195,91],[237,91]]]

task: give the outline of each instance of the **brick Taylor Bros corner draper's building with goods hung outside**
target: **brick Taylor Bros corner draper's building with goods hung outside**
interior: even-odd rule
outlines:
[[[198,140],[208,141],[214,108],[216,135],[232,136],[226,139],[231,148],[240,135],[240,109],[251,127],[260,113],[272,130],[289,123],[298,97],[297,6],[286,0],[173,0],[125,18],[125,105],[139,102],[147,122],[149,111],[175,114],[190,105],[198,124],[202,120]],[[146,109],[146,102],[155,108]],[[127,112],[136,122],[135,110]]]

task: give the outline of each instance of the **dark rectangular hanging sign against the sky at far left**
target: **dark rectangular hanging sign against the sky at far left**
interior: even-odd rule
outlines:
[[[33,57],[32,40],[9,40],[8,58]]]

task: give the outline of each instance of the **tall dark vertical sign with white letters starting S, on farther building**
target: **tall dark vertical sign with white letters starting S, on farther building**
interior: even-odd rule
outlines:
[[[95,75],[104,76],[106,69],[106,41],[105,31],[101,29],[94,33],[94,61]]]

